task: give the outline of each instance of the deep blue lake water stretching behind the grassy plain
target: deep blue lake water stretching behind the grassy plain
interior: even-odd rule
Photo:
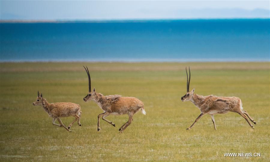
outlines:
[[[269,61],[270,19],[0,23],[3,61]]]

